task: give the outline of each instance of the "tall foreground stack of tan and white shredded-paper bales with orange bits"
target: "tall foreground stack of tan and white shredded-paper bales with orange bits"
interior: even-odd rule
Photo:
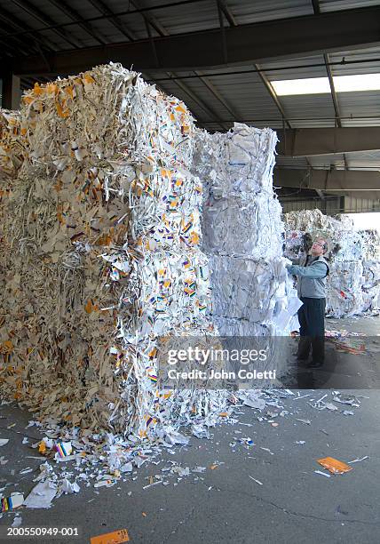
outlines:
[[[194,407],[157,388],[160,339],[213,332],[186,106],[111,63],[36,84],[20,126],[2,390],[44,420],[139,437],[174,409],[217,410],[217,392]]]

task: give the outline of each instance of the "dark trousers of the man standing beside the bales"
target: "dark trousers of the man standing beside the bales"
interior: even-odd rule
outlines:
[[[313,348],[313,363],[322,364],[325,358],[325,308],[326,299],[301,297],[303,305],[298,310],[298,359],[307,359]]]

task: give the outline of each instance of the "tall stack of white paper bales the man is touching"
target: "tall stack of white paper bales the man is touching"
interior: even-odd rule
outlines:
[[[212,269],[213,320],[226,336],[280,336],[299,301],[282,258],[281,205],[273,193],[275,132],[234,124],[197,133],[205,181],[203,250]]]

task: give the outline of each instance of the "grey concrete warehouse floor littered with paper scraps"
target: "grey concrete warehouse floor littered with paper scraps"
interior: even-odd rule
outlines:
[[[380,333],[379,325],[378,317],[328,321],[328,329],[345,327],[373,335]],[[362,389],[352,393],[363,396],[359,408],[336,404],[336,412],[318,411],[308,401],[328,393],[327,400],[331,402],[331,391],[303,390],[284,399],[284,409],[289,415],[277,418],[277,427],[268,420],[258,421],[259,412],[244,408],[237,416],[239,423],[211,429],[210,441],[192,437],[190,444],[176,448],[174,455],[164,452],[157,458],[161,460],[157,466],[139,468],[135,480],[128,476],[126,483],[101,488],[99,492],[92,486],[82,486],[77,495],[54,500],[49,510],[19,508],[21,526],[80,528],[79,539],[51,540],[62,543],[85,543],[91,536],[123,528],[128,529],[131,542],[141,543],[377,543],[380,394],[373,388],[376,383],[371,373],[365,371],[368,366],[373,370],[374,365],[379,369],[380,364],[378,354],[354,356],[354,361],[356,370],[360,368]],[[341,367],[344,370],[341,374],[353,375],[353,364],[351,355],[336,352],[335,369]],[[327,379],[323,372],[309,373],[316,383],[334,384],[338,370]],[[310,396],[298,399],[298,395]],[[343,410],[353,410],[354,414],[344,416]],[[36,450],[30,450],[21,441],[28,435],[32,444],[42,435],[36,428],[25,429],[31,419],[28,412],[4,406],[1,417],[0,437],[10,438],[10,442],[0,449],[0,459],[4,456],[8,460],[3,466],[0,464],[0,487],[12,482],[6,494],[12,491],[28,494],[36,473],[20,476],[20,470],[38,469],[41,461],[26,459],[28,455],[37,455]],[[310,420],[310,424],[297,419]],[[15,426],[8,428],[13,423]],[[231,445],[239,436],[249,436],[255,445]],[[368,459],[352,464],[349,473],[327,478],[314,473],[318,469],[327,472],[316,462],[325,456],[345,462],[364,456]],[[202,474],[191,472],[180,481],[171,478],[167,486],[158,484],[143,490],[149,483],[147,478],[170,466],[170,460],[183,467],[201,466],[206,470]],[[10,526],[13,518],[13,513],[5,513],[0,519],[0,529]],[[16,539],[2,541],[12,540]]]

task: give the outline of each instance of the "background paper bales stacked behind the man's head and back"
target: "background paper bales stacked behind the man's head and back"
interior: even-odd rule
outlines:
[[[375,230],[355,231],[350,218],[303,210],[284,215],[285,255],[297,263],[318,236],[329,242],[330,273],[326,311],[346,317],[380,308],[380,237]]]

